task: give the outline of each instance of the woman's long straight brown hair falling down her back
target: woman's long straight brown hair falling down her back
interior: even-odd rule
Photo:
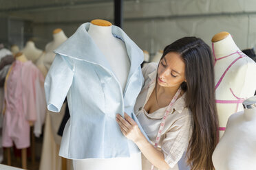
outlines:
[[[186,107],[191,109],[193,116],[187,163],[192,170],[212,170],[211,157],[218,142],[219,121],[211,49],[200,38],[184,37],[165,47],[162,58],[169,52],[180,53],[186,64],[186,82],[181,87],[186,91]]]

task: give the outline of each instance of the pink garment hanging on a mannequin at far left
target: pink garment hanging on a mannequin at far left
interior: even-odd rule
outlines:
[[[43,75],[31,61],[16,60],[12,64],[4,94],[3,147],[12,147],[12,141],[18,149],[30,146],[29,121],[41,120],[41,114],[45,114],[45,100],[40,90],[43,81]]]

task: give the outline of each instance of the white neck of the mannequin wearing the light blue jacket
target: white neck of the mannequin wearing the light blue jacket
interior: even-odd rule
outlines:
[[[94,37],[113,38],[111,26],[99,26],[90,23],[89,30],[87,32]]]

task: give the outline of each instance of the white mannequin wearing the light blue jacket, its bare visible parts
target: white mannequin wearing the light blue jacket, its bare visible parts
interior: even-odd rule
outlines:
[[[112,71],[124,90],[130,67],[125,43],[112,35],[111,23],[101,22],[109,25],[100,26],[103,24],[92,21],[88,34],[109,61]],[[73,166],[74,170],[141,170],[141,154],[132,154],[130,158],[73,160]]]

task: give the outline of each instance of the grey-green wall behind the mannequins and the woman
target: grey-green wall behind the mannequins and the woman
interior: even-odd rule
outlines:
[[[52,40],[55,28],[71,36],[81,23],[114,18],[113,1],[25,2],[15,8],[0,5],[0,14],[32,21],[41,49]],[[211,45],[213,35],[222,31],[230,32],[238,47],[246,49],[256,45],[255,6],[253,0],[126,0],[123,29],[151,55],[183,36],[198,36]]]

